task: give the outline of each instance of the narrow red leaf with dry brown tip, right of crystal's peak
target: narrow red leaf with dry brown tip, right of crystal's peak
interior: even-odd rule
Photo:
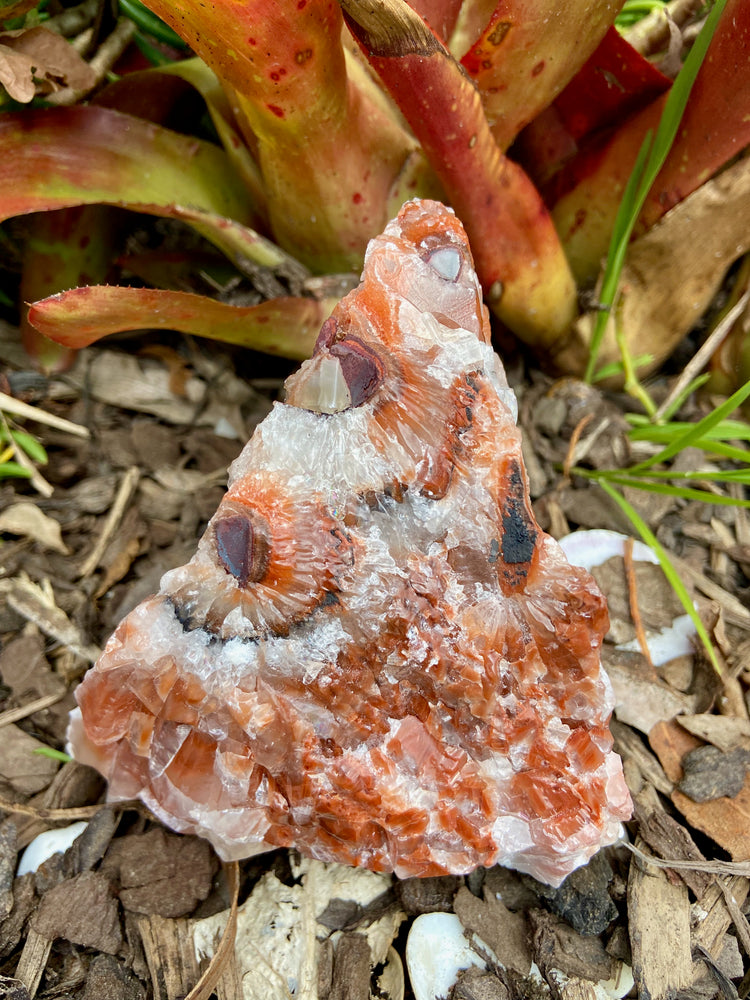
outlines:
[[[475,86],[403,0],[341,4],[466,227],[490,308],[523,340],[551,346],[576,314],[575,285],[539,194],[498,148]]]

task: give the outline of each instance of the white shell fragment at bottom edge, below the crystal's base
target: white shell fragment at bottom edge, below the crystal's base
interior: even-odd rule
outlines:
[[[406,967],[416,1000],[446,997],[462,969],[486,969],[464,937],[455,913],[423,913],[412,924],[406,941]]]

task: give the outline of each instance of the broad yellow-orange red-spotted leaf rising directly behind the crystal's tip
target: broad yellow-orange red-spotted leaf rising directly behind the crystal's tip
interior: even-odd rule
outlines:
[[[374,82],[351,75],[330,0],[149,0],[230,88],[271,230],[315,272],[359,269],[367,240],[429,171]],[[434,191],[434,182],[432,185]],[[400,201],[403,200],[400,198]]]

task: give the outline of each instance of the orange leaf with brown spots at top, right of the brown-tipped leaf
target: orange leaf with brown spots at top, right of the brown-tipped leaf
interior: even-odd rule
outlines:
[[[461,62],[502,149],[578,72],[621,6],[621,0],[499,0]]]

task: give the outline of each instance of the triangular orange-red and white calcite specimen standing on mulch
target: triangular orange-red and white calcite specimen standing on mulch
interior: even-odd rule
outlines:
[[[449,209],[372,241],[286,391],[78,688],[75,756],[223,858],[559,883],[630,816],[607,611],[534,520]]]

